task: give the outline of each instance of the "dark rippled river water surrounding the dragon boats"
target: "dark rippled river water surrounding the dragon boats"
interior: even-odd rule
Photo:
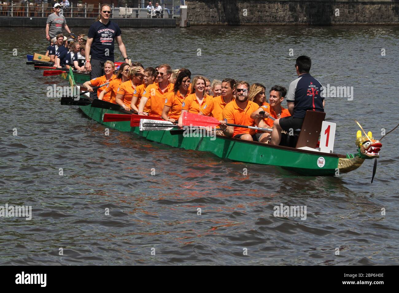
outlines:
[[[31,220],[0,218],[0,264],[399,264],[399,129],[382,140],[373,184],[373,161],[339,177],[302,177],[112,129],[105,136],[76,106],[47,97],[66,81],[25,64],[45,52],[44,28],[0,36],[0,205],[32,206]],[[145,67],[267,88],[288,88],[295,58],[310,56],[323,85],[353,87],[352,100],[326,98],[337,153],[356,152],[354,119],[376,138],[399,123],[395,26],[124,28],[122,39]],[[280,204],[306,206],[306,220],[273,216]]]

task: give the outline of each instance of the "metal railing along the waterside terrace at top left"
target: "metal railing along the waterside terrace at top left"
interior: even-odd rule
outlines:
[[[96,18],[101,4],[73,3],[69,7],[61,7],[60,14],[71,18]],[[38,2],[0,2],[0,16],[8,17],[48,17],[53,13],[53,4]],[[175,14],[176,13],[176,14]],[[112,4],[111,18],[173,18],[180,14],[180,9],[164,8],[160,13],[148,11],[146,8],[115,7]]]

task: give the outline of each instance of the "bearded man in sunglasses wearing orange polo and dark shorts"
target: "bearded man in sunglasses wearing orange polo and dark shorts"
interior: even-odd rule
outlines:
[[[251,118],[251,114],[259,108],[259,105],[248,100],[249,84],[246,81],[239,81],[235,86],[235,100],[228,103],[223,109],[220,129],[225,136],[257,142],[261,134],[257,134],[256,130],[225,125],[231,123],[255,126],[255,120]]]

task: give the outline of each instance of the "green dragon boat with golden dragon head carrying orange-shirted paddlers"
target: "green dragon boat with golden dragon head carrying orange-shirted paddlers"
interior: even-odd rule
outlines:
[[[69,80],[71,85],[84,83],[89,80],[88,76],[85,73],[74,74],[71,70],[69,73],[63,73],[63,78]],[[87,100],[93,101],[88,94],[86,96]],[[334,176],[353,171],[360,167],[365,159],[379,157],[379,150],[382,147],[382,144],[372,137],[371,132],[368,135],[361,136],[360,130],[356,138],[357,153],[346,155],[324,153],[317,149],[275,146],[220,135],[206,136],[206,133],[204,134],[203,132],[187,136],[183,130],[140,131],[139,127],[131,127],[130,121],[103,121],[104,114],[106,113],[126,114],[127,112],[122,110],[122,108],[121,110],[109,110],[93,107],[91,104],[79,105],[79,108],[89,118],[107,127],[124,132],[134,132],[136,135],[142,136],[151,142],[183,149],[207,151],[217,157],[232,161],[279,166],[307,176]],[[320,133],[320,129],[316,133]]]

